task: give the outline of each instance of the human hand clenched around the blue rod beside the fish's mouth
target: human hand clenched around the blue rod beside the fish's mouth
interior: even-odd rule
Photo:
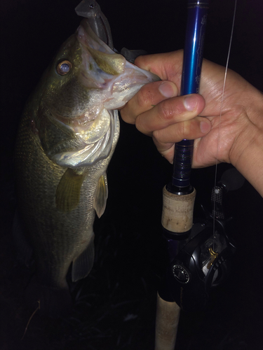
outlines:
[[[179,50],[136,59],[137,66],[165,81],[144,85],[121,109],[121,117],[151,136],[169,162],[175,142],[195,139],[193,167],[213,165],[217,158],[236,166],[251,138],[262,132],[263,120],[255,108],[261,98],[262,111],[262,95],[229,69],[222,102],[225,69],[204,59],[200,94],[179,96],[182,55]]]

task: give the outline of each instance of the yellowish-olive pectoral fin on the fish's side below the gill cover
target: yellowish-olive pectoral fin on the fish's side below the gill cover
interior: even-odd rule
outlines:
[[[55,205],[60,211],[72,211],[78,206],[84,179],[85,174],[76,174],[73,169],[67,169],[55,193]]]

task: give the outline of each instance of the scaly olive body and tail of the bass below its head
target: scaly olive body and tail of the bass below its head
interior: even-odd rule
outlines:
[[[27,114],[22,118],[15,167],[22,229],[32,246],[36,262],[36,276],[27,293],[27,303],[32,308],[42,300],[42,312],[54,316],[54,312],[61,314],[62,310],[66,311],[65,304],[71,303],[66,275],[71,263],[86,251],[89,244],[93,244],[94,193],[114,146],[107,159],[88,169],[81,186],[79,205],[72,211],[62,212],[55,205],[55,194],[67,169],[49,160],[34,133],[31,118]]]

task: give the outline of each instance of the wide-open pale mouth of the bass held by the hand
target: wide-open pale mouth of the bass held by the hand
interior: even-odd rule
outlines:
[[[93,89],[94,94],[97,90],[106,109],[120,109],[143,85],[160,80],[154,73],[140,69],[109,48],[85,19],[76,36],[82,48],[81,84]]]

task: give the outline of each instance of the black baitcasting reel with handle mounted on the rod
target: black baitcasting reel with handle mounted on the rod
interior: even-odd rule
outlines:
[[[175,301],[185,311],[198,311],[205,307],[211,290],[225,281],[236,247],[225,230],[224,196],[243,182],[236,169],[225,172],[212,190],[212,213],[205,211],[205,219],[196,220],[182,239],[164,230],[170,262],[159,290],[163,300]]]

